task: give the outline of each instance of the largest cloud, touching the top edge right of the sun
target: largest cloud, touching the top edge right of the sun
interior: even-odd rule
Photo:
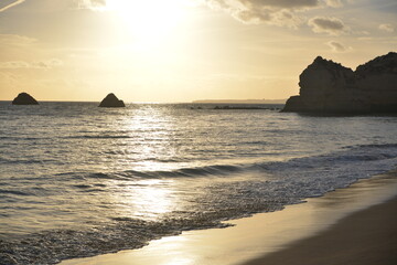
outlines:
[[[224,10],[244,23],[269,23],[297,28],[303,20],[296,14],[320,7],[319,0],[204,0],[217,10]]]

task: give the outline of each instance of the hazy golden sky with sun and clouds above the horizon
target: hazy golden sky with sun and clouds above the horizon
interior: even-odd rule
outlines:
[[[396,0],[0,0],[0,100],[281,99],[396,50]]]

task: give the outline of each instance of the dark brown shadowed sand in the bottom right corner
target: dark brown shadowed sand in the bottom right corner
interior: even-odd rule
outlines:
[[[397,198],[394,198],[244,265],[394,265],[397,264],[396,224]]]

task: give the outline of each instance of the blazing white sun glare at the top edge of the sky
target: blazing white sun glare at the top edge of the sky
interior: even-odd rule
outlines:
[[[132,38],[140,41],[170,35],[185,17],[183,0],[108,0],[106,9],[115,12]]]

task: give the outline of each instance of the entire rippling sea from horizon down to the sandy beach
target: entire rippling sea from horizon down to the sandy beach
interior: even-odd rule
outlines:
[[[0,102],[0,264],[225,227],[397,166],[397,116],[97,105]]]

